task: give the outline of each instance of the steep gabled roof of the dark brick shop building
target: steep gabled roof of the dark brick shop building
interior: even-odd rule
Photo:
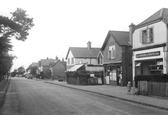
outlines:
[[[101,50],[103,50],[110,39],[110,37],[113,37],[116,43],[120,46],[130,46],[129,43],[129,32],[127,31],[109,31],[106,39],[102,45]]]

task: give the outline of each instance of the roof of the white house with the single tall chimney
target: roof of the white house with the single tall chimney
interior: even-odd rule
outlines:
[[[66,56],[68,58],[69,52],[72,52],[74,58],[96,58],[100,48],[86,48],[86,47],[70,47]]]

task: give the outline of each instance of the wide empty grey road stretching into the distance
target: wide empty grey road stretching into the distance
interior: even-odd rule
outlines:
[[[168,111],[35,79],[12,78],[0,115],[168,115]]]

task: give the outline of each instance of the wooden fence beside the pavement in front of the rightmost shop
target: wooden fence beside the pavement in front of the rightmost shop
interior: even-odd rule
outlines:
[[[140,95],[153,95],[168,97],[168,83],[167,82],[147,82],[139,81],[138,90]]]

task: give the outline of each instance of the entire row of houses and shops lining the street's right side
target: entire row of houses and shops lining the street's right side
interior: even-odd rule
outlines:
[[[65,59],[40,60],[38,70],[45,77],[65,78],[65,71],[103,71],[103,84],[119,85],[122,76],[123,86],[134,83],[136,75],[167,74],[168,9],[131,24],[129,31],[108,31],[100,48],[93,48],[90,41],[87,47],[69,47]]]

